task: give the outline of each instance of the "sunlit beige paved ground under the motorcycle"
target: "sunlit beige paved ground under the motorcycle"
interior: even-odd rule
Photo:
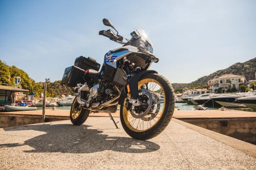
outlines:
[[[0,129],[0,169],[256,169],[256,158],[246,149],[175,118],[145,141],[118,126],[109,117],[89,117],[81,126],[62,120]],[[255,145],[227,139],[256,152]]]

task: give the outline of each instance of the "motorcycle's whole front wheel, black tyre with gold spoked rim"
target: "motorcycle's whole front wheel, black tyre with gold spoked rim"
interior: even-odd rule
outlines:
[[[121,124],[131,137],[151,139],[167,127],[173,116],[174,90],[169,81],[158,74],[143,75],[139,79],[138,88],[142,104],[126,107],[125,99],[120,107]]]

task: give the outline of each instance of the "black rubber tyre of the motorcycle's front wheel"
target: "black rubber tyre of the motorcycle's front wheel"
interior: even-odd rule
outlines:
[[[127,116],[128,114],[125,113],[127,112],[127,110],[125,106],[126,100],[124,100],[124,103],[120,106],[120,120],[121,120],[122,127],[128,135],[139,140],[151,139],[159,135],[169,124],[175,109],[174,89],[170,84],[170,82],[165,77],[160,76],[158,74],[145,74],[139,79],[139,82],[143,81],[143,79],[156,80],[158,83],[161,84],[164,91],[165,103],[164,103],[164,110],[161,112],[161,116],[159,117],[155,125],[150,129],[141,131],[141,130],[134,129],[133,127],[131,127],[130,123],[127,123],[127,119],[129,118]],[[125,119],[125,116],[127,117],[126,119]]]

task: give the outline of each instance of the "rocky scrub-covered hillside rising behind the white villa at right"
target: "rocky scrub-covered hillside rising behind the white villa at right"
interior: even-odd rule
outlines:
[[[220,77],[221,75],[224,75],[224,74],[243,75],[245,76],[246,80],[255,80],[255,72],[256,72],[256,57],[244,63],[236,63],[226,69],[215,71],[214,73],[208,76],[201,77],[194,82],[173,83],[172,85],[176,89],[185,88],[185,87],[205,86],[208,80]]]

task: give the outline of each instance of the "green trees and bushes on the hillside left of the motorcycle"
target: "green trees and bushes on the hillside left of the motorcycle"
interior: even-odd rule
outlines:
[[[41,93],[44,93],[44,83],[36,83],[29,75],[22,69],[17,68],[16,66],[8,66],[6,63],[0,60],[0,84],[3,85],[12,85],[14,76],[18,76],[22,79],[20,84],[23,89],[28,89],[29,94],[35,92],[35,95],[39,97]],[[61,85],[60,81],[50,82],[50,79],[46,78],[47,83],[47,97],[57,97],[61,94],[74,95],[71,87]]]

